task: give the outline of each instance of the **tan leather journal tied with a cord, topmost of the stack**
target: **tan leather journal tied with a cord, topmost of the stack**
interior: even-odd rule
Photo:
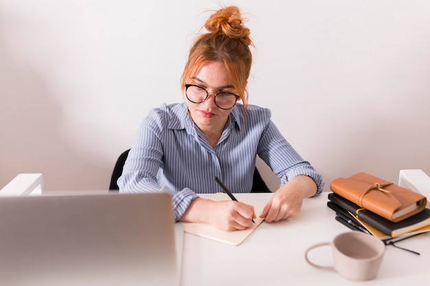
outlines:
[[[332,180],[330,189],[392,222],[400,222],[419,213],[427,204],[424,195],[365,172]]]

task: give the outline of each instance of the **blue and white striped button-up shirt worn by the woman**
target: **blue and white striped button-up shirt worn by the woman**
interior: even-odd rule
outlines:
[[[281,186],[305,175],[317,183],[318,195],[324,187],[321,175],[297,154],[270,117],[269,109],[249,105],[245,120],[242,104],[236,104],[212,148],[188,115],[186,103],[152,109],[139,126],[117,181],[120,192],[168,191],[179,219],[198,193],[223,191],[215,176],[233,193],[249,193],[258,154],[281,178]]]

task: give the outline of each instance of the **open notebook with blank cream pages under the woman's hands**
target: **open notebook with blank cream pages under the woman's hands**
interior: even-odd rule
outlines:
[[[229,196],[225,193],[215,193],[211,198],[211,200],[231,200]],[[254,202],[249,200],[240,200],[240,202],[244,202],[245,204],[251,204],[254,206],[254,210],[256,211],[256,215],[260,215],[262,213],[263,208],[265,206],[262,202]],[[199,237],[205,237],[207,239],[213,239],[216,241],[220,241],[223,243],[230,244],[232,246],[238,246],[240,243],[245,241],[251,233],[263,222],[264,219],[257,217],[254,219],[255,223],[245,230],[235,230],[235,231],[224,231],[220,230],[210,224],[199,224],[194,222],[181,222],[183,224],[183,230],[185,233],[190,233],[192,235],[198,235]]]

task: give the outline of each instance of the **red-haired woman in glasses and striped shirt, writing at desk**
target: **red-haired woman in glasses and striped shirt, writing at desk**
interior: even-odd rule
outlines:
[[[218,10],[205,28],[181,78],[185,103],[163,104],[144,119],[118,180],[120,191],[168,191],[178,221],[244,229],[256,218],[253,206],[197,194],[222,192],[215,176],[232,192],[249,193],[258,155],[281,178],[258,215],[266,222],[293,217],[324,182],[280,134],[270,110],[247,104],[253,44],[240,10]]]

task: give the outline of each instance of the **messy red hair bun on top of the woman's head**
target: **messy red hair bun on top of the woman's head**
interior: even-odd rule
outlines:
[[[225,34],[229,38],[238,38],[245,45],[252,45],[249,29],[243,24],[245,19],[236,6],[222,8],[207,19],[205,29],[212,34]]]

